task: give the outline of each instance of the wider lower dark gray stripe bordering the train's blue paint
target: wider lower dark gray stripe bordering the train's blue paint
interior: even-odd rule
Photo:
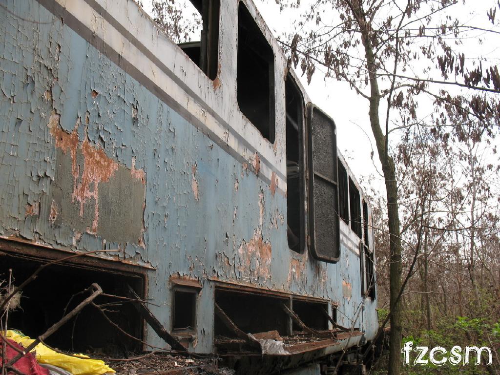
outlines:
[[[188,122],[196,126],[197,129],[199,129],[200,131],[203,132],[203,134],[212,139],[220,148],[225,150],[239,163],[243,164],[248,162],[248,160],[246,160],[236,150],[229,147],[229,145],[223,139],[219,138],[216,134],[214,134],[203,122],[201,122],[198,118],[192,115],[187,109],[185,109],[179,103],[177,103],[170,95],[168,95],[164,90],[158,87],[153,81],[151,81],[148,77],[146,77],[135,66],[129,63],[127,60],[125,60],[123,56],[117,53],[102,39],[96,36],[91,30],[89,30],[83,23],[81,23],[75,16],[69,13],[59,3],[53,0],[36,0],[36,1],[38,1],[43,7],[49,10],[52,14],[58,17],[63,17],[64,24],[68,25],[71,29],[73,29],[76,33],[78,33],[81,37],[83,37],[91,45],[93,45],[97,50],[104,53],[120,69],[123,69],[123,71],[132,76],[134,79],[136,79],[140,84],[146,87],[153,95],[157,96],[161,101],[167,104],[170,108],[172,108],[175,112],[181,115],[184,119],[186,119]],[[261,156],[259,155],[259,157]],[[248,168],[254,171],[254,168],[251,164],[248,164]],[[271,181],[269,178],[260,173],[258,174],[258,177],[262,181],[270,185]],[[278,189],[284,194],[283,189],[279,187]]]

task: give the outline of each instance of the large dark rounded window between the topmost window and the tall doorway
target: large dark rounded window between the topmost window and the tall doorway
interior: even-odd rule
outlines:
[[[238,6],[236,90],[241,113],[274,143],[274,54],[242,2]]]

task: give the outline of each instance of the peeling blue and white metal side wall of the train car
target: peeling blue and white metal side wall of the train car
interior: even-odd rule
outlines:
[[[148,298],[168,328],[169,277],[198,278],[199,352],[212,351],[209,279],[336,301],[338,322],[352,325],[361,295],[350,229],[341,226],[335,264],[287,246],[281,54],[275,144],[234,105],[235,1],[221,1],[214,82],[133,1],[0,1],[2,236],[121,249],[121,258],[155,267]],[[135,44],[118,38],[119,25]],[[134,49],[138,39],[152,62]],[[164,64],[157,71],[154,58]],[[366,338],[376,329],[374,307],[367,300],[356,323]],[[163,344],[152,330],[147,341]]]

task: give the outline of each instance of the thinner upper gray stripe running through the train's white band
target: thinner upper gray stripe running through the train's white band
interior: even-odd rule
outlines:
[[[149,58],[156,66],[158,66],[166,75],[168,75],[175,83],[177,83],[180,87],[187,92],[189,96],[194,98],[198,103],[200,103],[203,108],[210,113],[217,122],[223,124],[233,135],[238,139],[239,142],[244,144],[246,148],[248,148],[252,152],[256,152],[255,148],[239,134],[229,123],[227,123],[220,115],[213,110],[210,106],[206,105],[206,103],[193,91],[191,90],[177,75],[175,75],[166,65],[158,59],[151,51],[149,51],[144,44],[142,44],[135,36],[133,36],[130,31],[128,31],[121,23],[119,23],[115,18],[109,14],[106,9],[104,9],[100,4],[95,0],[84,0],[91,8],[93,8],[97,13],[99,13],[111,26],[113,26],[119,33],[121,33],[128,41],[130,41],[139,51],[141,51],[144,56]],[[193,63],[193,65],[195,65]],[[271,170],[273,170],[279,177],[283,180],[286,180],[286,177],[272,164],[267,160],[264,156],[259,154],[260,159],[269,166]]]

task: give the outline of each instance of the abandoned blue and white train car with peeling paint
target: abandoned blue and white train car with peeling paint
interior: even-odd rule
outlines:
[[[0,0],[0,279],[83,254],[26,286],[9,325],[36,336],[92,282],[101,301],[130,285],[237,372],[359,364],[377,331],[371,215],[335,124],[251,0],[193,4],[200,40],[177,45],[132,0]],[[107,313],[142,343],[91,306],[47,342],[165,346],[130,303]]]

